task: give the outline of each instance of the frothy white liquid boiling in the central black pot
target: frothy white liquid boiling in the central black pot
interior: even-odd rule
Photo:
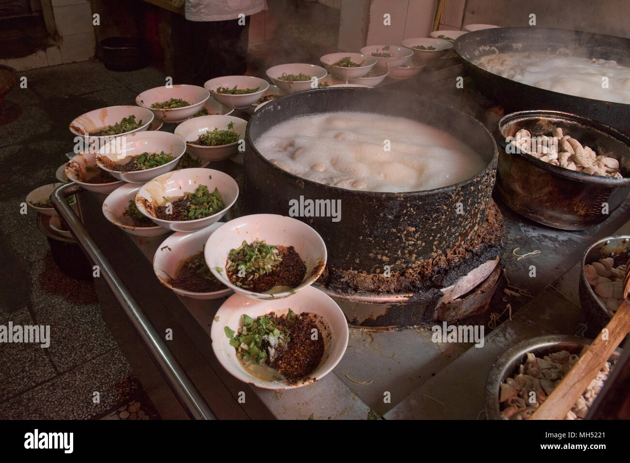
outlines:
[[[486,166],[442,130],[372,113],[295,117],[265,132],[255,146],[287,172],[349,190],[431,190],[467,180]]]

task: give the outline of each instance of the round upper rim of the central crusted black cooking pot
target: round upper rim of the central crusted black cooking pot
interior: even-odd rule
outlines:
[[[317,186],[319,188],[331,188],[333,190],[336,191],[352,191],[353,193],[357,193],[360,195],[365,195],[367,197],[374,197],[374,198],[382,198],[382,197],[389,197],[389,198],[401,198],[404,197],[405,195],[414,195],[414,196],[424,196],[424,195],[433,195],[435,193],[438,193],[440,191],[446,191],[446,190],[452,190],[452,189],[456,189],[456,188],[461,188],[461,187],[465,187],[467,185],[469,185],[469,183],[473,182],[475,178],[477,178],[478,176],[480,176],[481,174],[483,174],[486,171],[489,170],[494,170],[495,169],[495,165],[498,162],[498,146],[496,144],[496,140],[495,137],[493,137],[493,135],[490,133],[490,131],[488,129],[486,129],[486,127],[483,125],[483,123],[479,122],[478,119],[472,117],[471,115],[468,115],[460,110],[458,110],[457,108],[455,108],[454,106],[450,106],[450,105],[444,105],[444,103],[441,103],[440,101],[434,100],[433,98],[427,98],[425,96],[418,96],[418,95],[410,95],[410,94],[405,94],[406,96],[410,97],[410,98],[416,98],[418,100],[424,100],[427,101],[428,103],[432,103],[434,105],[438,105],[438,106],[442,106],[443,108],[447,108],[451,111],[455,111],[456,113],[459,113],[460,115],[462,115],[463,117],[466,117],[467,119],[477,123],[479,125],[479,127],[481,127],[486,134],[488,135],[488,137],[490,138],[490,140],[492,141],[492,146],[493,146],[493,154],[492,157],[490,159],[490,161],[486,164],[486,166],[481,169],[481,171],[479,171],[478,173],[474,174],[472,177],[467,178],[466,180],[463,180],[459,183],[453,183],[452,185],[446,185],[446,186],[440,186],[439,188],[433,188],[432,190],[417,190],[417,191],[399,191],[398,193],[392,192],[392,191],[363,191],[363,190],[349,190],[348,188],[340,188],[339,186],[332,186],[332,185],[324,185],[324,183],[318,183],[316,181],[312,181],[312,180],[308,180],[306,178],[302,178],[299,177],[295,174],[292,174],[288,171],[285,171],[284,169],[280,169],[278,166],[276,166],[275,164],[271,163],[268,159],[266,159],[265,156],[263,156],[260,151],[258,151],[258,149],[256,148],[253,140],[251,139],[251,135],[250,135],[250,127],[251,127],[251,121],[255,120],[255,118],[257,117],[263,117],[262,114],[265,113],[265,111],[270,111],[274,109],[274,106],[278,104],[279,101],[284,100],[285,98],[292,98],[294,97],[294,95],[299,95],[299,94],[311,94],[311,93],[319,93],[322,91],[335,91],[338,93],[348,93],[348,91],[353,91],[353,92],[359,92],[359,93],[365,93],[365,92],[370,92],[370,93],[384,93],[384,94],[405,94],[404,92],[401,91],[394,91],[394,90],[384,90],[384,89],[372,89],[372,88],[347,88],[347,87],[338,87],[338,88],[320,88],[320,89],[311,89],[311,90],[305,90],[305,91],[301,91],[301,92],[297,92],[297,93],[291,93],[288,95],[285,95],[281,98],[277,98],[276,100],[272,100],[269,101],[268,104],[265,105],[264,108],[261,108],[260,110],[256,111],[254,113],[254,115],[251,117],[251,119],[249,120],[249,123],[247,124],[247,128],[245,130],[245,142],[246,144],[248,144],[249,146],[251,146],[251,149],[253,150],[253,152],[255,152],[255,154],[257,156],[260,156],[261,159],[263,159],[263,161],[265,161],[265,163],[268,163],[270,166],[272,166],[273,169],[278,169],[281,172],[291,176],[292,178],[295,179],[295,181],[302,181],[304,183],[304,185],[311,185],[311,186]],[[295,97],[294,97],[295,98]],[[327,112],[340,112],[340,111],[327,111]],[[320,111],[320,114],[325,113],[324,111]],[[377,113],[378,114],[378,113]],[[454,135],[452,135],[454,136]]]

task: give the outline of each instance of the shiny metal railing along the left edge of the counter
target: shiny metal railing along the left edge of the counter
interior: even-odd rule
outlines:
[[[166,383],[175,394],[175,397],[185,409],[186,413],[193,420],[215,420],[216,416],[210,410],[205,399],[203,399],[197,387],[186,374],[183,367],[173,356],[173,353],[166,346],[164,340],[157,334],[156,329],[144,314],[140,306],[135,302],[134,298],[129,294],[129,290],[118,277],[108,260],[103,256],[96,243],[89,236],[88,231],[74,210],[66,202],[66,198],[79,193],[81,186],[76,183],[66,183],[59,186],[52,195],[50,200],[60,217],[66,222],[72,235],[83,249],[84,253],[99,266],[100,273],[105,277],[110,290],[116,297],[123,311],[129,317],[133,328],[140,336],[140,340],[146,346],[149,355],[156,364],[157,369],[161,372]]]

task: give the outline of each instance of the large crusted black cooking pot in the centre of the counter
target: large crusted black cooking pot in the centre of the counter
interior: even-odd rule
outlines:
[[[486,161],[473,178],[445,188],[411,193],[353,191],[299,178],[267,161],[255,141],[290,118],[331,111],[365,111],[407,117],[445,130]],[[481,123],[449,106],[419,96],[365,88],[302,91],[267,103],[246,132],[245,209],[248,214],[290,215],[290,200],[341,200],[341,220],[296,217],[310,224],[328,248],[328,265],[382,273],[410,268],[435,251],[473,239],[486,215],[495,183],[497,148]],[[463,214],[457,214],[462,203]]]

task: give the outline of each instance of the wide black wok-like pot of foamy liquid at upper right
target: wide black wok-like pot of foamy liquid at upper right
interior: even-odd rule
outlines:
[[[501,103],[505,112],[558,110],[604,122],[630,134],[630,105],[592,100],[532,87],[498,76],[473,64],[485,55],[507,52],[544,52],[616,60],[630,66],[630,38],[539,27],[505,27],[469,32],[457,38],[455,52],[483,93]]]

